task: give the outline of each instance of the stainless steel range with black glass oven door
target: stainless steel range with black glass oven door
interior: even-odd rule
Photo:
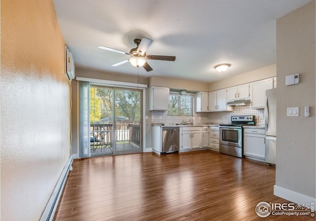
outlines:
[[[254,115],[232,116],[231,124],[219,125],[219,152],[244,158],[242,125],[255,125]]]

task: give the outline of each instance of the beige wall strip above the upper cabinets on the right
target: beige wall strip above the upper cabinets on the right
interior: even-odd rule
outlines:
[[[224,73],[225,74],[225,73]],[[228,88],[240,84],[253,82],[256,80],[262,80],[269,77],[276,76],[276,64],[269,65],[264,68],[256,69],[251,72],[238,74],[222,80],[218,80],[209,84],[208,91],[215,91],[223,88]]]

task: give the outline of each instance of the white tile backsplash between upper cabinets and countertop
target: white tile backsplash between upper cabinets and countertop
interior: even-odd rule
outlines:
[[[251,109],[250,105],[234,106],[233,111],[221,112],[194,112],[194,116],[169,116],[167,111],[152,111],[152,123],[175,124],[190,120],[193,124],[199,123],[229,123],[233,115],[255,115],[256,124],[264,124],[264,109]]]

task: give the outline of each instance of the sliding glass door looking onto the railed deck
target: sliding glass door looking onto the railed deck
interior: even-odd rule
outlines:
[[[142,152],[141,90],[90,86],[90,155]]]

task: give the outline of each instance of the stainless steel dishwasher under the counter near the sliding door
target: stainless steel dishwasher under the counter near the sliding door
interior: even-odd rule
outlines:
[[[180,146],[180,128],[163,127],[162,128],[162,153],[179,152]]]

